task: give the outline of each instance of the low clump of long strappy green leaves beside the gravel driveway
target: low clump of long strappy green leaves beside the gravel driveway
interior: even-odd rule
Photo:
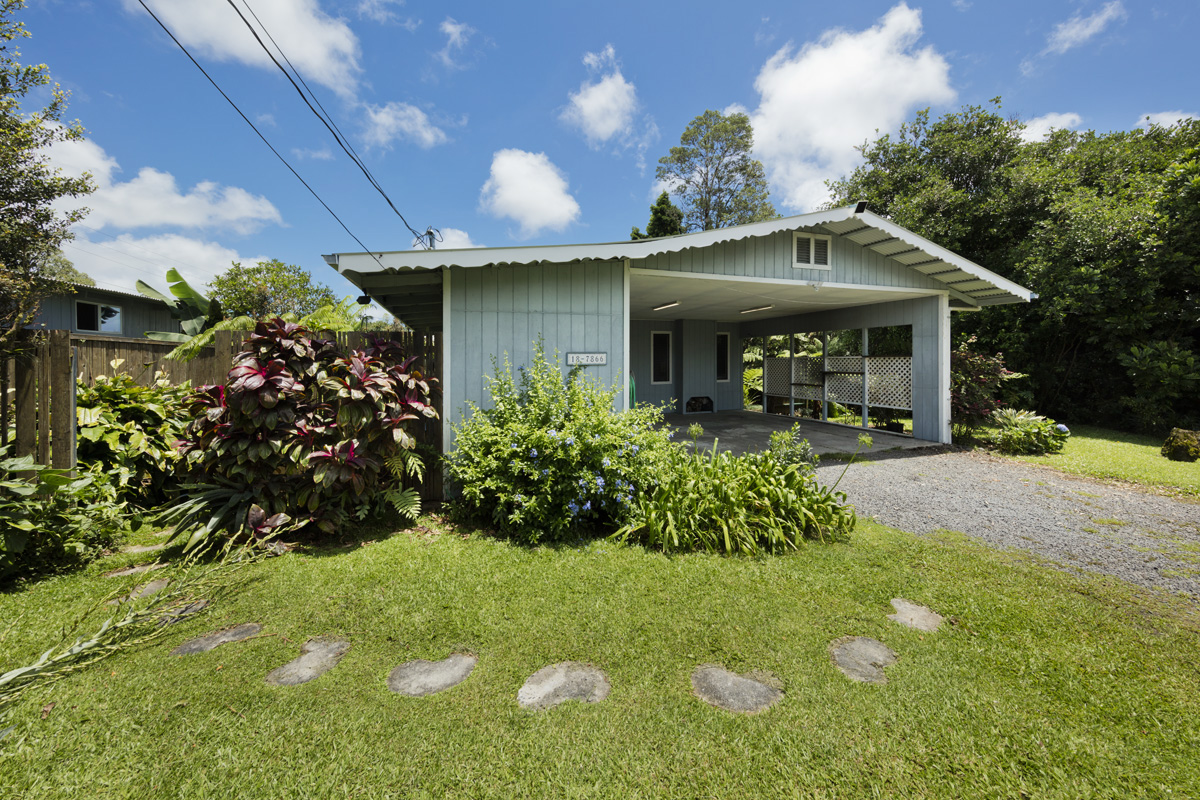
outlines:
[[[672,455],[658,482],[635,499],[632,518],[614,534],[619,541],[664,552],[756,555],[796,549],[804,539],[833,540],[854,528],[846,495],[820,486],[806,461],[784,462],[770,451],[733,456],[716,443],[712,450]]]

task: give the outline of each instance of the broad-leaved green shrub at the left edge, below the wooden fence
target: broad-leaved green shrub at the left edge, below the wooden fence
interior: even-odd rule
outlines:
[[[68,470],[7,458],[0,449],[0,585],[96,558],[125,525],[124,504],[106,470]]]

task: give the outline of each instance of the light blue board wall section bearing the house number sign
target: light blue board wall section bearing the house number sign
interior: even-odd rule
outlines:
[[[620,261],[454,267],[449,337],[454,408],[446,409],[446,422],[460,422],[468,413],[467,402],[488,408],[492,359],[503,365],[508,357],[514,371],[528,366],[539,338],[548,357],[558,350],[564,375],[566,353],[607,353],[606,366],[587,367],[584,374],[606,386],[624,380],[623,293]]]

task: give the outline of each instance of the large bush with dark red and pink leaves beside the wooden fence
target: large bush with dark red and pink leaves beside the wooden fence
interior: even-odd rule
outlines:
[[[343,354],[294,323],[259,323],[227,383],[188,398],[180,452],[192,494],[164,519],[196,545],[286,523],[334,533],[383,503],[415,517],[420,498],[404,482],[421,462],[404,428],[436,416],[415,361],[395,342]]]

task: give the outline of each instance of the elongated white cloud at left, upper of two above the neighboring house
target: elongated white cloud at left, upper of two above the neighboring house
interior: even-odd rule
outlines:
[[[130,181],[118,181],[120,166],[95,142],[61,142],[48,155],[50,163],[67,175],[92,174],[95,192],[59,201],[60,207],[89,207],[84,223],[92,228],[174,225],[248,233],[263,223],[282,223],[270,200],[236,186],[200,181],[181,192],[174,175],[152,167],[143,167]]]

